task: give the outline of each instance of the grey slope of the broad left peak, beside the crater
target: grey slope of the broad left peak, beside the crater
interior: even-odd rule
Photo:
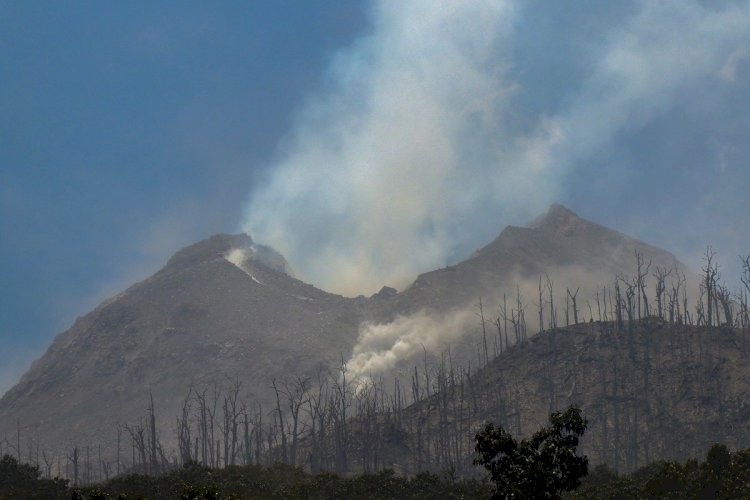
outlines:
[[[268,404],[271,378],[346,356],[361,301],[225,258],[250,244],[219,235],[192,245],[79,318],[0,400],[0,432],[15,436],[18,419],[46,447],[93,445],[143,416],[149,393],[169,426],[191,386],[237,378],[248,400]]]

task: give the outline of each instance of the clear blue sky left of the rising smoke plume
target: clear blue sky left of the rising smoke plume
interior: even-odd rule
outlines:
[[[0,382],[181,246],[238,231],[366,23],[356,2],[277,4],[0,3]]]

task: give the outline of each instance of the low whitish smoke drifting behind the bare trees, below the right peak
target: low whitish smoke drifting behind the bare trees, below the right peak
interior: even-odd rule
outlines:
[[[634,242],[635,244],[635,242]],[[600,319],[613,320],[611,300],[613,296],[614,283],[617,275],[621,274],[627,279],[632,279],[636,272],[635,250],[636,247],[613,248],[609,255],[603,256],[604,260],[610,262],[611,272],[606,266],[598,263],[593,267],[580,265],[559,266],[549,269],[548,275],[543,278],[542,288],[542,329],[549,328],[549,292],[546,278],[553,285],[553,306],[555,309],[554,324],[563,326],[566,324],[566,297],[568,289],[576,295],[579,322]],[[650,271],[653,273],[657,267],[672,269],[677,263],[668,255],[649,256],[651,263]],[[680,286],[686,286],[688,297],[692,303],[697,297],[697,283],[687,270],[680,268],[685,273],[687,282]],[[511,315],[512,310],[517,310],[516,298],[520,294],[524,308],[527,334],[536,334],[539,328],[539,278],[538,275],[525,275],[513,273],[507,280],[498,282],[493,290],[481,290],[483,314],[486,321],[486,333],[488,347],[494,352],[497,342],[497,330],[493,324],[496,318],[501,317],[500,304],[505,302],[506,313]],[[670,275],[671,279],[678,279],[676,273]],[[653,276],[647,277],[647,289],[653,294]],[[607,298],[605,298],[607,295]],[[505,297],[504,297],[505,296]],[[504,300],[505,299],[505,300]],[[597,300],[599,301],[597,303]],[[654,301],[655,302],[655,301]],[[482,341],[481,319],[479,316],[479,297],[472,299],[470,303],[464,304],[450,311],[425,311],[421,310],[408,316],[398,316],[393,321],[385,323],[365,322],[360,325],[357,343],[352,351],[352,356],[347,362],[347,369],[353,380],[378,379],[379,377],[395,376],[396,368],[404,368],[406,361],[408,370],[412,366],[421,365],[424,350],[430,356],[452,350],[453,360],[458,366],[466,367],[469,363],[476,361],[476,347]],[[651,304],[652,311],[656,307]],[[574,314],[569,308],[569,322],[573,322]],[[511,328],[509,323],[503,322],[504,328]],[[508,341],[515,343],[514,334],[506,332]]]

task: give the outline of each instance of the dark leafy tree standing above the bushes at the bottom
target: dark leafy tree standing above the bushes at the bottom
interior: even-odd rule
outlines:
[[[474,465],[484,466],[495,483],[492,498],[558,498],[588,472],[588,459],[576,455],[588,422],[570,406],[550,415],[550,425],[520,443],[488,423],[477,433]]]

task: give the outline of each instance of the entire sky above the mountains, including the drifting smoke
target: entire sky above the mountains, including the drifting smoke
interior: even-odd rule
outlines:
[[[344,293],[554,201],[750,252],[748,1],[2,2],[0,82],[0,392],[217,232]]]

